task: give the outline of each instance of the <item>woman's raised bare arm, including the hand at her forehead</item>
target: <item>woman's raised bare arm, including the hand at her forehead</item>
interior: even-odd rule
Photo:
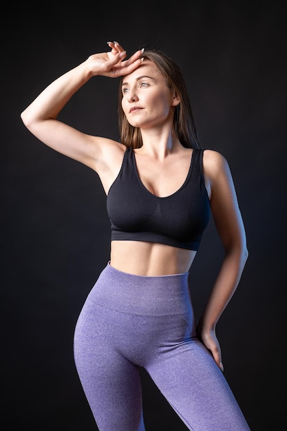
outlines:
[[[57,78],[21,113],[23,123],[36,138],[95,171],[101,169],[108,159],[105,157],[105,147],[116,143],[107,138],[79,132],[56,118],[67,101],[92,76],[116,78],[132,72],[140,65],[140,50],[125,60],[127,54],[123,47],[116,42],[108,42],[108,45],[111,51],[93,54]]]

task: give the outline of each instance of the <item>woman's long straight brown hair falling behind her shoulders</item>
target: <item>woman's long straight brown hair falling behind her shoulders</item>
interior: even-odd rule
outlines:
[[[180,67],[167,54],[159,50],[146,50],[142,58],[153,61],[160,70],[160,73],[167,80],[173,94],[177,94],[180,103],[175,107],[173,116],[173,128],[180,143],[187,148],[200,148],[198,132],[195,128],[187,87]],[[140,148],[142,146],[142,135],[138,127],[129,124],[122,107],[122,83],[120,78],[118,89],[118,128],[120,132],[120,142],[127,147]]]

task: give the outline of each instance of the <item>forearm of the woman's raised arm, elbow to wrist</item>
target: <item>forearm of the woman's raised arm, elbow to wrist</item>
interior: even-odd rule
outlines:
[[[29,127],[31,123],[56,118],[67,101],[90,77],[89,68],[83,62],[57,78],[22,112],[23,123]]]

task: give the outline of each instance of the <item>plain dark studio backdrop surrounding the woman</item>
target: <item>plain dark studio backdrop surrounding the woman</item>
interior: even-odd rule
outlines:
[[[118,40],[158,48],[187,80],[202,147],[228,160],[249,257],[217,326],[224,374],[252,431],[281,430],[286,388],[284,3],[148,1],[8,5],[1,65],[3,431],[96,431],[73,358],[76,319],[109,260],[105,193],[91,169],[45,147],[19,114],[43,88]],[[118,138],[118,81],[94,78],[61,118]],[[222,257],[213,222],[193,268],[198,315]],[[148,431],[186,428],[142,372]]]

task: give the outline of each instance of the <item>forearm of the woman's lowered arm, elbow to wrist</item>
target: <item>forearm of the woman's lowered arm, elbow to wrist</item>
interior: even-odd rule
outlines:
[[[200,331],[215,329],[218,319],[231,300],[231,297],[233,297],[240,282],[247,257],[248,251],[246,247],[242,250],[234,250],[226,253],[209,300],[200,317]]]

